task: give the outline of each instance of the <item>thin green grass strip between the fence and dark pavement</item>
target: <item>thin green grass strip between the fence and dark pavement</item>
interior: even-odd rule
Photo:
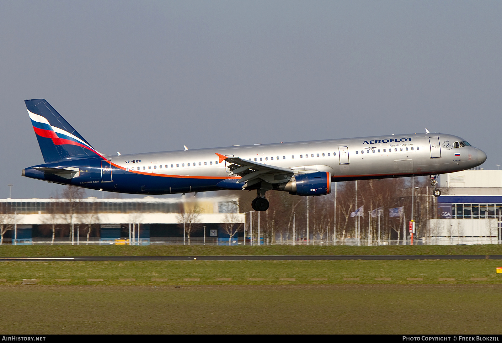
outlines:
[[[0,246],[0,257],[190,255],[502,255],[502,245],[202,246],[28,245]]]

